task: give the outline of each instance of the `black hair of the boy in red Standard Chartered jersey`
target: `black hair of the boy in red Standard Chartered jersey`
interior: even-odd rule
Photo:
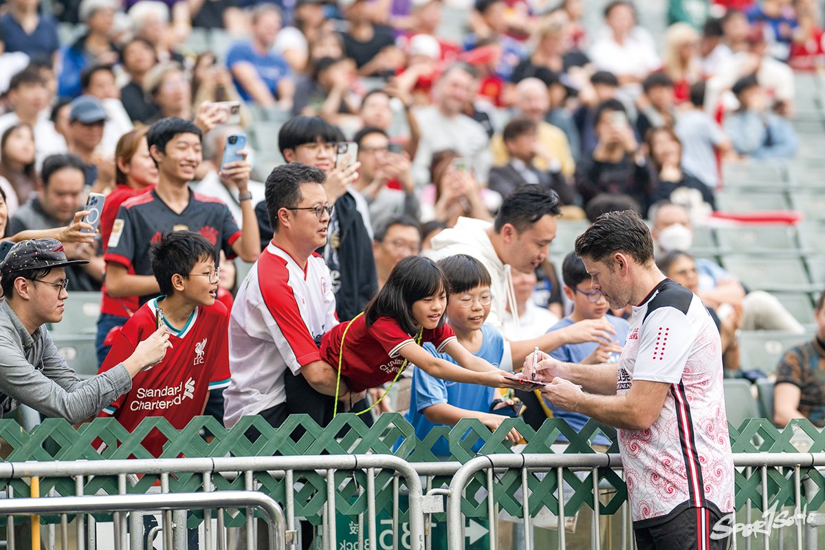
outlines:
[[[201,260],[212,260],[217,264],[218,255],[206,237],[191,231],[163,233],[160,241],[149,247],[152,272],[161,294],[167,296],[175,292],[172,277],[177,274],[188,279],[192,268]]]

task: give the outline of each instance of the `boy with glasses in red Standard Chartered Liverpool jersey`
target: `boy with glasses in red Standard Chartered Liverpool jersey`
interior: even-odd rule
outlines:
[[[162,296],[139,308],[115,338],[100,372],[111,369],[134,350],[145,334],[166,327],[172,348],[163,361],[140,373],[129,393],[98,416],[114,416],[134,430],[148,416],[163,416],[180,430],[203,413],[210,390],[229,386],[226,306],[216,301],[219,269],[214,247],[190,231],[166,233],[150,250],[152,270]],[[154,457],[166,438],[152,430],[144,448]],[[172,457],[179,449],[167,453]]]

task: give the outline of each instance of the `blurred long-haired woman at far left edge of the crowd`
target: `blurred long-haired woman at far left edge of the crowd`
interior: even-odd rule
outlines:
[[[6,192],[6,205],[10,216],[37,188],[35,134],[30,125],[21,123],[2,133],[0,187]]]

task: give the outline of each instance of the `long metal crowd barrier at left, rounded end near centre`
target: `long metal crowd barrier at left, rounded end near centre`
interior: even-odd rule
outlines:
[[[175,493],[169,492],[169,477],[170,475],[193,473],[200,474],[202,477],[201,487],[204,492],[195,493],[204,499],[214,499],[210,502],[223,501],[223,495],[234,494],[236,491],[214,491],[214,484],[212,477],[214,474],[219,474],[222,477],[243,477],[244,491],[241,494],[256,495],[258,487],[254,483],[254,472],[267,472],[273,477],[282,478],[285,480],[285,527],[290,539],[294,537],[298,530],[298,524],[295,518],[295,491],[296,482],[294,480],[295,472],[318,472],[326,479],[327,503],[323,509],[323,545],[322,548],[326,550],[337,550],[336,538],[336,492],[337,484],[335,481],[336,472],[356,472],[363,471],[366,474],[366,487],[361,491],[365,492],[367,499],[367,525],[370,548],[379,548],[378,539],[376,536],[376,508],[375,508],[375,476],[380,470],[394,471],[394,524],[393,524],[393,538],[398,540],[398,496],[399,496],[399,477],[403,478],[408,487],[409,498],[409,532],[410,532],[410,548],[411,550],[423,550],[424,546],[424,521],[422,515],[422,485],[421,480],[414,468],[402,458],[393,455],[380,454],[365,454],[365,455],[331,455],[331,456],[305,456],[305,457],[248,457],[248,458],[159,458],[159,459],[131,459],[131,460],[101,460],[101,461],[67,461],[67,462],[26,462],[26,463],[0,463],[0,480],[7,479],[24,479],[31,478],[32,480],[40,480],[42,477],[73,477],[77,492],[77,497],[80,498],[83,494],[83,487],[88,478],[96,476],[116,476],[118,478],[118,490],[120,495],[117,496],[83,496],[87,499],[103,499],[112,497],[126,497],[127,487],[129,486],[130,477],[152,474],[160,476],[161,493],[149,494],[146,496],[157,497],[158,501],[169,499],[174,502]],[[143,495],[135,495],[143,496]],[[8,508],[0,508],[0,515],[5,514],[3,510],[14,510],[14,502],[16,501],[31,501],[27,502],[26,514],[47,514],[54,509],[50,506],[59,506],[56,501],[68,497],[44,497],[33,499],[20,499],[11,491],[9,492],[5,501],[0,502],[7,504]],[[50,503],[50,501],[53,501]],[[125,505],[129,499],[118,502]],[[150,500],[147,500],[148,503]],[[100,501],[106,502],[106,501]],[[154,501],[152,501],[154,502]],[[40,508],[38,507],[40,505]],[[194,506],[193,508],[200,508]],[[147,508],[144,510],[157,510],[158,506]],[[139,507],[129,508],[129,510],[139,510]],[[204,509],[204,524],[207,532],[206,536],[206,550],[211,550],[211,507]],[[76,509],[75,512],[81,512],[76,519],[76,529],[78,538],[78,550],[85,548],[85,543],[88,543],[88,548],[97,548],[91,530],[89,534],[85,532],[85,510]],[[127,518],[125,514],[121,514],[119,510],[109,509],[115,512],[114,529],[115,540],[117,541],[116,548],[140,548],[143,540],[143,525],[142,522],[135,520],[139,517],[138,514],[130,515],[131,529],[127,529]],[[178,520],[178,525],[186,523],[185,514],[183,520]],[[223,523],[223,514],[217,515],[218,524],[218,547],[223,550],[227,548],[226,532]],[[257,522],[250,520],[252,518],[251,510],[247,513],[247,521],[245,524],[245,538],[247,548],[256,548],[257,541]],[[89,517],[89,523],[93,522],[93,518]],[[186,529],[172,529],[172,512],[167,507],[163,520],[163,534],[164,547],[163,548],[184,548],[186,541]],[[9,532],[13,532],[13,519],[8,520]],[[364,519],[360,519],[360,524],[364,523]],[[62,522],[64,532],[68,531],[66,527],[65,517]],[[53,527],[53,526],[50,526]],[[360,530],[360,537],[362,531]],[[174,537],[174,538],[173,538]],[[52,539],[54,537],[51,537]],[[128,543],[131,539],[131,546]],[[65,538],[64,538],[65,540]],[[363,548],[363,540],[360,541],[360,547]],[[11,547],[13,548],[13,547]]]

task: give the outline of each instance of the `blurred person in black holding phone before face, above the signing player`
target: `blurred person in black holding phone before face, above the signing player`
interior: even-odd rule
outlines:
[[[576,187],[583,206],[600,193],[629,195],[648,209],[650,172],[647,158],[629,124],[625,106],[607,100],[596,107],[596,148],[576,167]]]

